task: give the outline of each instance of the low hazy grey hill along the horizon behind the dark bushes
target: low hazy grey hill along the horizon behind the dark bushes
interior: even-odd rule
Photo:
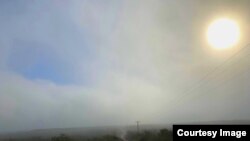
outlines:
[[[227,121],[204,121],[204,122],[189,122],[189,123],[174,123],[174,124],[248,124],[250,120],[227,120]],[[142,124],[140,130],[159,130],[167,128],[172,130],[172,125],[160,124]],[[0,140],[6,138],[31,138],[43,137],[51,138],[60,134],[67,134],[69,136],[85,136],[96,137],[103,135],[124,136],[127,131],[137,131],[136,126],[103,126],[103,127],[82,127],[82,128],[52,128],[52,129],[37,129],[30,131],[14,132],[0,134]]]

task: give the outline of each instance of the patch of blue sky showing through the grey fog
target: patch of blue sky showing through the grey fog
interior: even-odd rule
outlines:
[[[55,57],[53,48],[43,44],[18,41],[9,54],[9,68],[29,79],[46,79],[58,84],[73,83],[68,64]]]

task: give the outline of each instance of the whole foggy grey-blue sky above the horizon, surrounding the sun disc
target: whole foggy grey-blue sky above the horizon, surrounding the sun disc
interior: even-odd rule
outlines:
[[[250,48],[221,66],[249,43],[249,5],[1,0],[0,132],[250,120]],[[223,51],[205,38],[220,17],[241,29]]]

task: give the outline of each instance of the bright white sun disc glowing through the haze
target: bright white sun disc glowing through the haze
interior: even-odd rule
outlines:
[[[222,18],[214,21],[207,29],[208,43],[216,49],[233,47],[240,36],[240,29],[234,20]]]

